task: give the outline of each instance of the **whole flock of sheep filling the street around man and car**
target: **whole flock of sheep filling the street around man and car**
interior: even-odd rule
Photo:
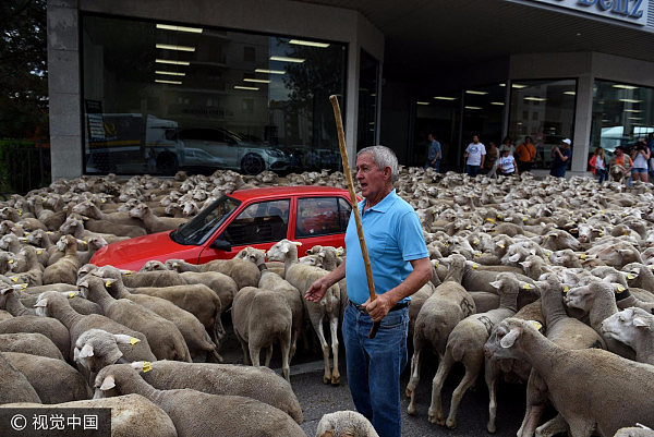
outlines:
[[[12,196],[0,209],[0,408],[111,406],[114,436],[303,436],[290,362],[299,338],[317,338],[323,380],[339,384],[347,290],[335,284],[319,304],[302,296],[342,260],[341,248],[316,246],[299,259],[296,243],[282,240],[267,253],[153,260],[138,272],[88,262],[110,242],[177,228],[229,191],[344,183],[339,172],[217,171],[85,177]],[[431,352],[432,423],[455,428],[483,374],[489,433],[506,380],[526,387],[518,436],[654,435],[652,185],[404,168],[396,189],[421,218],[434,266],[410,305],[409,414]],[[219,364],[228,311],[251,366]],[[282,376],[261,366],[275,343]],[[465,374],[446,415],[441,391],[457,362]],[[543,424],[548,405],[558,415]],[[376,433],[337,412],[317,435]]]

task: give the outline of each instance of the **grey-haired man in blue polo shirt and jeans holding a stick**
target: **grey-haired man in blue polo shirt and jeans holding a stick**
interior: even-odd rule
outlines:
[[[350,302],[343,315],[348,385],[356,410],[382,437],[400,437],[400,373],[407,364],[408,304],[432,278],[432,265],[417,215],[396,194],[398,160],[387,147],[366,147],[356,155],[356,180],[365,197],[359,204],[377,299],[368,302],[365,265],[354,215],[346,232],[346,262],[312,283],[305,298],[319,302],[326,290],[346,278]],[[368,339],[373,321],[379,331]]]

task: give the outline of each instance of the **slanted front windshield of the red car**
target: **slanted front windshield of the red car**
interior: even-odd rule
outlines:
[[[178,244],[202,244],[240,204],[241,202],[232,197],[222,196],[191,221],[171,232],[170,238]]]

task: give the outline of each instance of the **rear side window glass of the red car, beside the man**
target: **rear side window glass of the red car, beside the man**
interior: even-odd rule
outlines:
[[[295,238],[342,233],[348,228],[350,204],[342,197],[298,199]]]

